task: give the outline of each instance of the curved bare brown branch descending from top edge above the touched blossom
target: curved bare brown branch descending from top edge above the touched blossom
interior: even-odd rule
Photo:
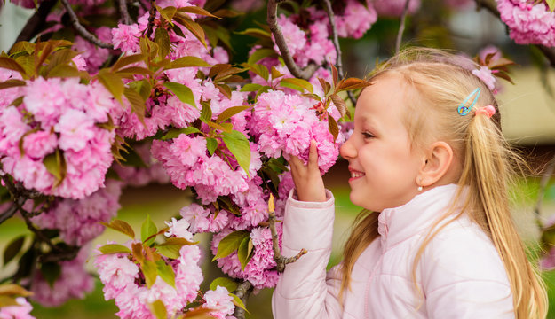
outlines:
[[[277,7],[278,4],[283,2],[283,0],[268,0],[268,12],[267,12],[267,24],[272,31],[272,34],[275,38],[275,44],[277,44],[278,48],[281,52],[281,58],[285,62],[285,66],[289,69],[289,72],[293,74],[295,77],[299,79],[310,79],[318,66],[313,63],[310,63],[304,69],[300,69],[295,63],[295,60],[291,56],[289,52],[289,48],[287,47],[287,43],[285,42],[285,38],[283,37],[283,33],[281,33],[281,27],[277,23]]]

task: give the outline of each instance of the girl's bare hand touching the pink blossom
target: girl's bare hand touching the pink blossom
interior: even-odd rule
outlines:
[[[291,167],[291,175],[293,175],[293,182],[297,189],[298,200],[308,202],[326,201],[326,189],[320,175],[320,168],[318,168],[316,141],[310,142],[306,166],[296,156],[291,156],[289,166]]]

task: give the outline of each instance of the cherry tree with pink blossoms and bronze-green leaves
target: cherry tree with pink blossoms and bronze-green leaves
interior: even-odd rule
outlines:
[[[359,39],[378,19],[399,19],[399,50],[416,0],[13,1],[36,8],[0,56],[0,223],[22,218],[0,285],[0,318],[28,318],[25,298],[59,306],[92,289],[92,258],[121,318],[244,317],[250,292],[274,287],[281,216],[293,187],[287,160],[316,141],[321,174],[350,134],[347,105],[369,82],[345,76],[339,38]],[[468,3],[463,2],[463,3]],[[552,2],[476,1],[519,44],[555,66]],[[444,1],[449,10],[462,2]],[[266,24],[233,29],[260,8]],[[387,18],[389,17],[389,18]],[[232,21],[232,22],[230,22]],[[234,34],[256,38],[233,57]],[[238,61],[231,63],[231,61]],[[512,62],[495,49],[472,70],[492,89]],[[172,183],[193,194],[180,214],[140,230],[117,219],[128,185]],[[126,242],[97,247],[105,229]],[[200,292],[201,249],[227,275]],[[30,245],[29,245],[30,243]]]

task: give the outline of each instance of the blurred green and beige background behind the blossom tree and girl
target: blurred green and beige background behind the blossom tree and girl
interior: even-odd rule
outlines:
[[[514,189],[513,216],[519,232],[532,252],[535,260],[537,241],[540,231],[535,222],[534,207],[538,201],[538,190],[543,169],[555,156],[555,71],[546,65],[541,53],[527,46],[514,44],[506,35],[503,24],[485,11],[477,11],[475,4],[468,4],[455,10],[447,10],[438,5],[439,1],[422,0],[422,8],[408,18],[405,43],[440,48],[455,49],[473,56],[487,45],[496,45],[503,53],[518,63],[512,68],[512,78],[516,85],[503,82],[498,96],[502,105],[502,124],[504,135],[522,150],[534,168],[531,175],[519,180]],[[230,22],[230,28],[243,30],[266,22],[266,7],[263,1],[234,1],[235,6],[251,6],[259,10],[243,15]],[[7,51],[26,23],[32,10],[16,7],[9,2],[0,3],[0,50]],[[378,19],[369,32],[359,40],[341,42],[343,60],[347,74],[363,77],[375,65],[377,59],[383,60],[392,55],[394,39],[399,27],[399,19]],[[248,36],[232,35],[234,46],[233,61],[241,63],[253,42]],[[335,221],[334,249],[329,266],[341,260],[341,247],[348,235],[349,226],[361,211],[349,201],[349,186],[346,162],[338,159],[324,176],[327,187],[336,197],[337,214]],[[542,198],[540,219],[547,222],[555,214],[555,183],[551,177]],[[392,181],[394,183],[394,181]],[[121,198],[122,208],[118,218],[130,222],[138,229],[147,214],[156,225],[163,227],[163,221],[177,216],[182,206],[189,202],[189,194],[179,191],[170,184],[151,184],[142,188],[127,188]],[[0,225],[0,252],[13,237],[27,233],[24,222],[11,219]],[[107,239],[124,241],[123,235],[106,230],[92,245],[105,244]],[[203,273],[205,286],[215,277],[221,276],[218,268],[210,262],[208,251],[210,237],[197,235],[204,244]],[[535,252],[535,253],[534,253]],[[89,261],[91,273],[94,268]],[[15,265],[4,265],[0,255],[0,279],[10,276]],[[550,315],[555,318],[555,271],[544,271],[543,277],[550,294]],[[33,315],[37,318],[115,318],[117,308],[113,300],[105,301],[102,287],[97,280],[94,292],[84,300],[71,300],[63,307],[44,308],[34,304]],[[250,318],[271,318],[272,291],[264,290],[251,295],[247,304]]]

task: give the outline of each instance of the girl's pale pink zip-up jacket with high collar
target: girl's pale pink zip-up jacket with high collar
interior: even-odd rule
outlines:
[[[275,319],[514,318],[511,286],[488,236],[463,214],[433,237],[413,261],[433,222],[446,212],[457,185],[436,187],[380,213],[377,237],[353,267],[351,290],[337,295],[338,266],[326,274],[334,198],[301,202],[293,191],[285,209],[282,254],[308,253],[289,264],[274,291]]]

